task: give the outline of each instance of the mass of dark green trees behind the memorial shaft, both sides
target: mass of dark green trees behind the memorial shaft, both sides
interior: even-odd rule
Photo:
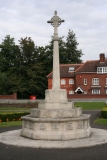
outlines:
[[[78,50],[73,31],[66,41],[59,39],[60,63],[80,63],[82,51]],[[44,98],[47,89],[46,76],[53,66],[53,40],[45,47],[37,47],[30,37],[21,38],[15,44],[7,35],[0,45],[0,94],[17,93],[18,98],[30,95]]]

